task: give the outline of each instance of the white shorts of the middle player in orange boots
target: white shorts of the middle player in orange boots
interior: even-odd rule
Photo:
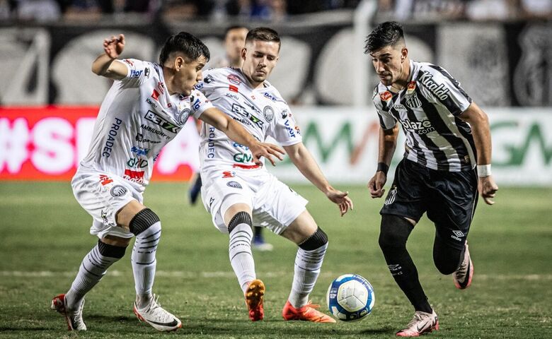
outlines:
[[[219,167],[202,171],[201,196],[213,225],[228,233],[224,213],[236,203],[246,203],[253,211],[253,226],[267,227],[281,234],[309,203],[265,169]]]

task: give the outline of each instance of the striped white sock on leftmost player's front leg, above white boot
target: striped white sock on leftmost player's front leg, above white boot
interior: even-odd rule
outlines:
[[[151,287],[154,286],[157,244],[161,239],[161,222],[146,228],[136,236],[132,248],[132,272],[136,289],[137,304],[140,309],[151,300]]]

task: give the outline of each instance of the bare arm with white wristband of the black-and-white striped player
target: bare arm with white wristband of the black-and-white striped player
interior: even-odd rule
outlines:
[[[478,167],[478,191],[483,200],[488,205],[495,203],[494,198],[498,185],[490,174],[491,141],[489,119],[483,109],[479,108],[475,102],[472,102],[460,115],[460,119],[466,121],[471,126],[473,141],[476,143],[477,167]]]

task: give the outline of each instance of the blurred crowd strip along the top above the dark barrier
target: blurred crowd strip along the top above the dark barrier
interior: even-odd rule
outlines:
[[[552,0],[372,0],[383,20],[517,20],[552,18]],[[0,20],[99,20],[108,15],[149,18],[285,20],[296,14],[354,9],[361,0],[0,0]]]

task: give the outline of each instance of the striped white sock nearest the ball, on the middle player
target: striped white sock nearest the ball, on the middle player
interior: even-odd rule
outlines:
[[[312,251],[305,251],[299,247],[295,256],[295,273],[293,275],[292,292],[289,293],[289,303],[299,309],[309,302],[309,294],[314,289],[316,279],[320,274],[322,261],[328,243]]]

